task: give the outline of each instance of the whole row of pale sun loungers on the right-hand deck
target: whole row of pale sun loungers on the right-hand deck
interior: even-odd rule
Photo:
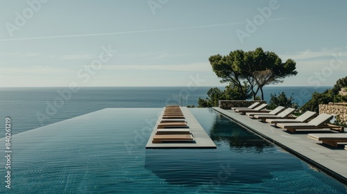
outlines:
[[[316,112],[307,111],[301,116],[294,118],[291,116],[296,109],[277,107],[271,112],[264,110],[266,104],[253,103],[249,107],[232,108],[235,112],[246,114],[251,118],[261,119],[263,122],[271,123],[285,129],[289,132],[296,132],[297,130],[319,130],[330,129],[338,132],[344,132],[344,127],[332,125],[328,123],[333,117],[330,114],[319,114],[316,116]],[[252,108],[253,107],[253,108]],[[314,116],[316,116],[314,118]],[[324,133],[324,134],[308,134],[308,137],[315,139],[316,141],[322,141],[322,143],[337,147],[337,143],[347,143],[346,133]],[[347,145],[345,146],[347,150]]]

